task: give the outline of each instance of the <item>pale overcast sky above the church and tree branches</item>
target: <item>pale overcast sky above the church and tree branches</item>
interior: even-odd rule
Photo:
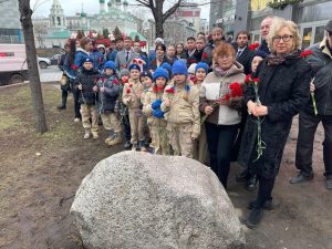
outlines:
[[[84,2],[84,11],[89,14],[97,13],[100,11],[100,1],[98,0],[59,0],[60,4],[62,6],[65,15],[72,15],[76,12],[81,12],[82,2]],[[50,9],[52,6],[53,0],[31,0],[31,9],[34,7],[35,2],[40,2],[40,4],[35,12],[35,17],[49,17]],[[107,2],[107,0],[105,1]],[[134,0],[129,0],[129,3],[134,3]],[[170,0],[168,2],[172,2]],[[198,1],[198,0],[190,0],[190,2],[207,2],[207,1]],[[132,7],[133,8],[133,7]],[[208,19],[209,15],[209,4],[201,6],[201,14],[200,18]]]

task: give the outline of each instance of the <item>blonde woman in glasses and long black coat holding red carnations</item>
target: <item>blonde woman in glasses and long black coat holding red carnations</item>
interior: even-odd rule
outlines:
[[[309,100],[310,65],[300,56],[301,35],[297,24],[276,18],[268,35],[271,54],[255,76],[247,76],[245,103],[248,120],[239,162],[258,175],[259,189],[247,227],[260,222],[263,208],[271,208],[271,193],[289,136],[292,117]]]

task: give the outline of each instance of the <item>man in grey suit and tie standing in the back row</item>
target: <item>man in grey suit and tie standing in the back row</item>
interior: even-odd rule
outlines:
[[[129,37],[126,37],[124,40],[124,50],[120,51],[116,54],[115,59],[115,65],[116,70],[120,72],[122,69],[128,69],[132,64],[133,59],[138,59],[139,54],[135,53],[132,50],[132,39]]]

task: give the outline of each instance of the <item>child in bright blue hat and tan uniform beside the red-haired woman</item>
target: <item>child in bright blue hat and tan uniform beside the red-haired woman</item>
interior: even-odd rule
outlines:
[[[183,61],[172,66],[174,85],[167,85],[163,95],[169,142],[174,155],[193,158],[194,142],[200,133],[199,91],[187,80],[188,71]]]

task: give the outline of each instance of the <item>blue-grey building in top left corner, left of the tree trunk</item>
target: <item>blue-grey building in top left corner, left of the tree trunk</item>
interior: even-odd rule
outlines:
[[[0,2],[0,43],[23,43],[18,0]]]

